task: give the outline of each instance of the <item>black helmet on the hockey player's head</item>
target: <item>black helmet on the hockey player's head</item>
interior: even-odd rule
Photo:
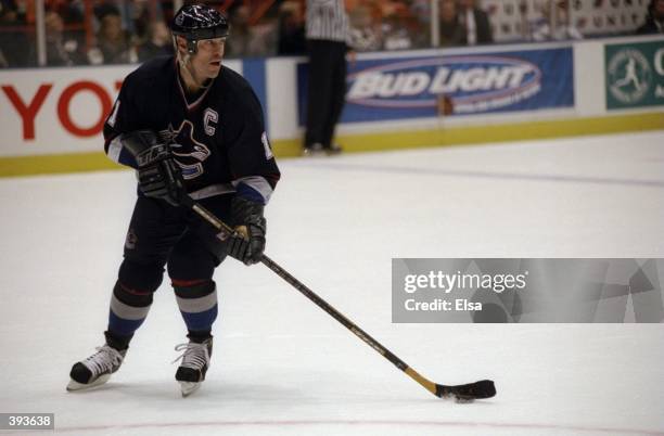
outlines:
[[[201,39],[226,38],[228,36],[226,16],[205,4],[186,4],[175,14],[170,23],[173,35],[187,38],[187,49],[196,52]]]

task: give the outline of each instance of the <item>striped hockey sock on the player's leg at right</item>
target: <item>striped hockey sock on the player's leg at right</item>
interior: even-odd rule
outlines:
[[[212,337],[217,319],[217,290],[212,280],[173,280],[178,307],[189,330],[189,338],[203,342]]]

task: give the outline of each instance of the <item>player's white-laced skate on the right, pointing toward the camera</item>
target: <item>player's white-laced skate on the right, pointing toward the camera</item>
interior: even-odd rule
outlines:
[[[189,341],[187,344],[176,346],[176,351],[182,351],[176,360],[182,359],[180,368],[176,372],[176,380],[180,383],[182,397],[187,397],[201,387],[201,383],[205,380],[205,373],[209,367],[209,357],[212,356],[212,341],[208,338],[203,343]]]

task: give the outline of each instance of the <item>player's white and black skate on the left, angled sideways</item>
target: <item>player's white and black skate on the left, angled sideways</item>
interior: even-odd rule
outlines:
[[[72,367],[67,390],[89,389],[106,383],[123,364],[126,354],[127,349],[119,351],[107,344],[97,347],[95,354]]]

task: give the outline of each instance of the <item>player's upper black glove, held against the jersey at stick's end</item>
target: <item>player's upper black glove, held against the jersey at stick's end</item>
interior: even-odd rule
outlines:
[[[162,198],[173,206],[181,205],[187,190],[168,144],[152,130],[125,133],[122,142],[138,164],[139,190],[145,196]]]

